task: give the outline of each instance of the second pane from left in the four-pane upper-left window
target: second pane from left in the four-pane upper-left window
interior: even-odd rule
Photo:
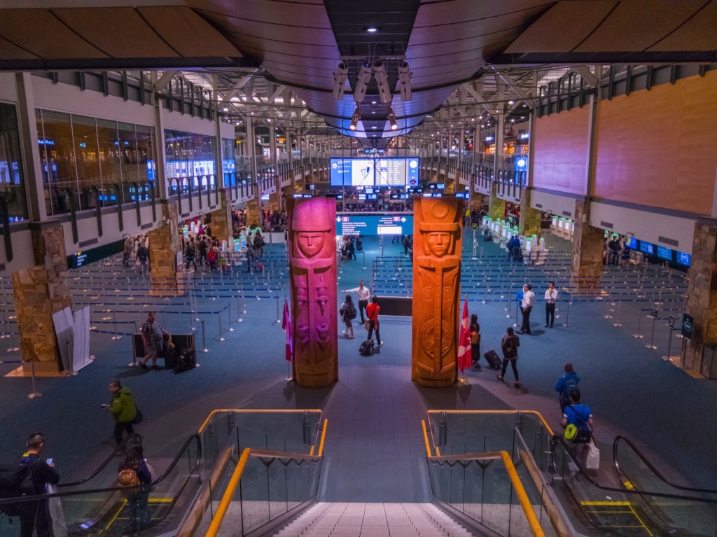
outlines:
[[[77,184],[80,189],[80,206],[77,209],[92,209],[96,204],[91,187],[100,188],[102,184],[95,118],[73,115],[72,134],[77,151]]]

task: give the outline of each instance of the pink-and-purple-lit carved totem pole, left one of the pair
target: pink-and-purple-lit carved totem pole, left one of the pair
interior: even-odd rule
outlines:
[[[293,375],[318,388],[338,380],[336,200],[288,201]]]

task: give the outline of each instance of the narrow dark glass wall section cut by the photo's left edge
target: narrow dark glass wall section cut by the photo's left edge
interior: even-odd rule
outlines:
[[[17,110],[5,103],[0,103],[0,195],[7,202],[10,222],[27,219]]]

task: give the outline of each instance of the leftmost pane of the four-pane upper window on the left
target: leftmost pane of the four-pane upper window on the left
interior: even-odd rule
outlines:
[[[47,212],[48,214],[70,212],[70,201],[65,189],[70,189],[72,195],[77,196],[77,172],[70,114],[42,110],[40,119],[37,141],[46,191]]]

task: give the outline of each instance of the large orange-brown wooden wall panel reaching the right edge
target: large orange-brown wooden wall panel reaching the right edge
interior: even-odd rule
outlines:
[[[717,73],[632,92],[597,108],[594,195],[711,214]]]

